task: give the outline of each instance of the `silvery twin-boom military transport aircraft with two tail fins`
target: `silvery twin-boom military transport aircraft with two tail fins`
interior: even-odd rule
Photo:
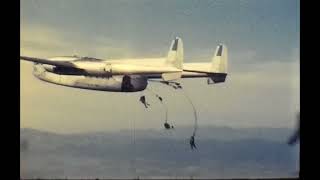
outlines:
[[[49,59],[20,56],[34,62],[40,80],[75,88],[112,92],[143,91],[150,79],[170,82],[180,78],[207,78],[208,84],[225,82],[227,47],[219,44],[211,62],[183,63],[183,43],[176,37],[167,57],[143,59],[97,59],[62,56]]]

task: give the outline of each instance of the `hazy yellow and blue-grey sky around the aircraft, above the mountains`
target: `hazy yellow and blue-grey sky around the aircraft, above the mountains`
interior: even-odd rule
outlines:
[[[226,83],[181,80],[199,125],[294,127],[300,109],[300,5],[296,0],[21,0],[21,55],[97,58],[166,56],[184,42],[185,62],[210,61],[219,42],[229,50]],[[164,109],[148,92],[81,90],[42,82],[21,62],[21,127],[55,132],[163,128]],[[192,125],[182,92],[150,83],[169,121]],[[146,94],[151,108],[138,99]],[[151,99],[150,99],[151,98]]]

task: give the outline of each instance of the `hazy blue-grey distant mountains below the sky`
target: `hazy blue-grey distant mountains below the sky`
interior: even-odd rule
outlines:
[[[192,127],[56,134],[20,130],[24,178],[287,177],[297,153],[287,146],[289,129]],[[133,136],[134,135],[134,136]]]

